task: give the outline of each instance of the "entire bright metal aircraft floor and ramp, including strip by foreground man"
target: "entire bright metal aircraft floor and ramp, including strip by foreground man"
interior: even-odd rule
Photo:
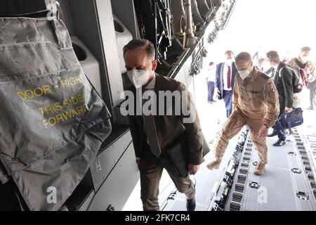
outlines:
[[[258,154],[248,135],[239,154],[235,146],[242,137],[230,141],[220,169],[206,169],[206,162],[211,158],[209,154],[194,177],[196,210],[316,210],[315,161],[312,162],[315,160],[312,148],[315,136],[298,132],[294,129],[294,135],[289,136],[287,145],[282,147],[272,146],[277,138],[268,139],[269,162],[262,176],[254,174]],[[162,204],[162,210],[185,210],[185,195],[178,193],[173,184],[166,189],[171,195]]]

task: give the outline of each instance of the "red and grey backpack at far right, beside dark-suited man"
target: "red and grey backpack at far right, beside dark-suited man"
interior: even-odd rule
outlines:
[[[307,85],[307,79],[305,71],[302,68],[294,68],[289,65],[285,66],[288,71],[292,74],[292,85],[293,85],[293,93],[300,93],[303,90],[303,87]],[[283,68],[279,70],[281,75]]]

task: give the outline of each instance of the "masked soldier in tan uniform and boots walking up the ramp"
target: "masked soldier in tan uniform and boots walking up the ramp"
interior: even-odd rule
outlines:
[[[255,174],[264,173],[268,163],[266,136],[268,129],[275,124],[279,115],[279,101],[273,80],[254,68],[251,55],[239,53],[236,58],[236,75],[232,115],[225,122],[215,146],[215,160],[207,165],[209,169],[218,169],[220,162],[232,139],[244,127],[249,125],[250,136],[258,150],[259,163]]]

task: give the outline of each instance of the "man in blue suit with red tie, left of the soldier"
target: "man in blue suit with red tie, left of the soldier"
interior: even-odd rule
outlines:
[[[234,90],[236,66],[233,61],[234,53],[232,51],[225,52],[225,63],[219,63],[216,66],[216,93],[219,99],[224,99],[226,116],[232,114],[232,90]]]

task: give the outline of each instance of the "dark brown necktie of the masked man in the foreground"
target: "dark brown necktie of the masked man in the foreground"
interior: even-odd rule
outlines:
[[[150,150],[157,158],[159,158],[159,156],[162,155],[162,150],[160,149],[159,141],[157,138],[157,130],[156,130],[156,124],[154,122],[154,116],[144,115],[144,123],[145,123],[147,140],[150,144]]]

